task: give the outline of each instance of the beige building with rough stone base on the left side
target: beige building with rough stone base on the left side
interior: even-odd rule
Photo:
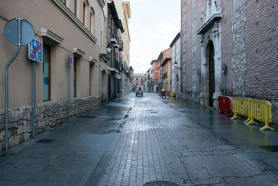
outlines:
[[[108,101],[108,66],[114,67],[111,60],[120,53],[112,52],[110,58],[106,55],[106,46],[112,36],[110,29],[117,27],[108,26],[113,20],[108,2],[6,1],[0,3],[0,9],[1,30],[9,20],[22,17],[33,25],[35,39],[42,42],[43,62],[35,64],[35,134],[68,122],[69,89],[71,118],[98,107],[101,100]],[[116,33],[121,37],[124,30],[121,25],[118,27]],[[0,151],[5,148],[6,137],[5,66],[16,50],[17,47],[0,32]],[[30,139],[32,134],[33,62],[27,58],[27,53],[28,46],[22,46],[9,68],[9,146]],[[70,79],[69,54],[73,56]],[[120,55],[117,57],[120,59]]]

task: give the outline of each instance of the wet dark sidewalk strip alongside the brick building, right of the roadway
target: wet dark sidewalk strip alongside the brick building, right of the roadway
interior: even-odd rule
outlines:
[[[237,150],[259,163],[263,168],[278,176],[278,130],[259,129],[259,125],[245,125],[245,117],[231,121],[231,117],[217,115],[213,109],[199,106],[193,102],[179,100],[163,100],[165,104],[183,113],[194,123],[211,132],[225,144],[234,146]]]

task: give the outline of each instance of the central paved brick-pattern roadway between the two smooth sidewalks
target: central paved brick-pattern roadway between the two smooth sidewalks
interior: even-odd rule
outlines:
[[[146,94],[147,95],[147,94]],[[147,96],[145,96],[147,97]],[[277,176],[154,96],[137,99],[99,185],[278,185]]]

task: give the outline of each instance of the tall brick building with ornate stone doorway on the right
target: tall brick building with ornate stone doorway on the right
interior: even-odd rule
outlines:
[[[183,99],[214,109],[224,93],[268,100],[278,123],[277,25],[275,0],[182,0]]]

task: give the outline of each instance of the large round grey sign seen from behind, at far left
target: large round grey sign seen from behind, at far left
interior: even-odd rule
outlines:
[[[10,20],[7,22],[5,25],[5,36],[9,42],[11,42],[13,45],[17,45],[17,38],[18,38],[18,33],[17,33],[17,20],[21,19],[21,45],[28,45],[31,40],[33,40],[35,31],[32,26],[27,20],[23,20],[22,18],[15,18],[13,20]]]

